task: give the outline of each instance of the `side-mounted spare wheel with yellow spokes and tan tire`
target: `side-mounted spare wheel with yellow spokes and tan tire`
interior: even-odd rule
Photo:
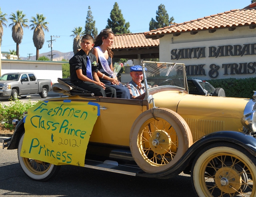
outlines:
[[[169,169],[192,143],[187,123],[170,109],[145,111],[134,121],[130,131],[132,156],[147,173]]]

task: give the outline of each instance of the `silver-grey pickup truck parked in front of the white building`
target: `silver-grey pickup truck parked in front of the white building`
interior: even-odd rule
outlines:
[[[16,100],[18,96],[26,98],[28,94],[39,94],[41,98],[46,98],[51,90],[51,80],[38,80],[33,73],[6,73],[0,78],[0,98]]]

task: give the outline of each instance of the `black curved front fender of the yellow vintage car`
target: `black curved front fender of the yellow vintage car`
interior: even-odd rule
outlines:
[[[176,176],[180,174],[182,171],[184,171],[184,169],[194,160],[194,157],[196,157],[196,155],[204,147],[218,142],[234,143],[236,145],[243,147],[254,157],[256,156],[256,138],[252,137],[251,135],[247,135],[245,133],[237,131],[218,131],[205,135],[204,137],[201,137],[196,142],[194,142],[193,145],[182,156],[180,161],[178,161],[170,169],[155,174],[141,172],[136,174],[136,176],[155,178],[169,178],[172,176]]]

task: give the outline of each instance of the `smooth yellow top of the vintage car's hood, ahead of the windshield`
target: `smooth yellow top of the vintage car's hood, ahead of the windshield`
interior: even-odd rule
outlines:
[[[250,99],[190,95],[178,91],[154,94],[156,107],[164,107],[182,115],[242,118]]]

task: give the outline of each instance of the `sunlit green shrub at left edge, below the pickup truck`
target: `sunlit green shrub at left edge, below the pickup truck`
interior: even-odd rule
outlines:
[[[21,120],[23,113],[28,111],[28,108],[34,106],[36,103],[32,103],[30,100],[22,103],[20,100],[10,101],[9,105],[0,104],[0,122],[5,129],[12,131],[14,126],[12,125],[13,119]]]

